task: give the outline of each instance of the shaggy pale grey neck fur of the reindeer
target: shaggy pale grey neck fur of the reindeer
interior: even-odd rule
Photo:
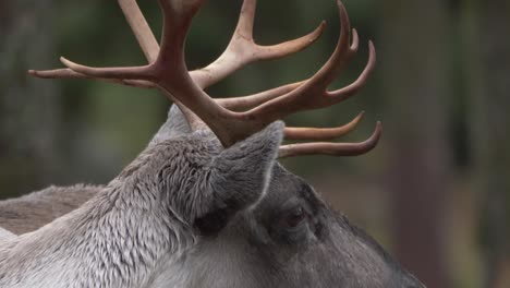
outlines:
[[[0,287],[151,287],[195,239],[133,169],[77,211],[2,243]]]

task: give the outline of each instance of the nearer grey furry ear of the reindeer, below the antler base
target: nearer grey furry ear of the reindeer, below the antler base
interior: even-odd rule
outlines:
[[[195,226],[203,233],[219,231],[232,216],[255,205],[266,193],[283,137],[277,121],[263,131],[222,151],[212,160],[210,202],[203,206]]]

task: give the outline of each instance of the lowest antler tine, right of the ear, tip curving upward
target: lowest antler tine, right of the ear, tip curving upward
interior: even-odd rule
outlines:
[[[279,158],[303,155],[359,156],[372,151],[379,142],[382,125],[377,122],[372,136],[360,143],[315,142],[280,146]]]

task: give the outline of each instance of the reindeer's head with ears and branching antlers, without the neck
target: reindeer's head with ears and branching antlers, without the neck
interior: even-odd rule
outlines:
[[[338,91],[327,89],[359,47],[340,1],[341,34],[318,72],[305,81],[224,99],[209,97],[204,89],[255,60],[304,49],[321,34],[324,23],[302,38],[259,46],[252,32],[256,1],[245,0],[226,51],[208,67],[190,72],[184,44],[204,0],[159,0],[160,47],[135,0],[119,3],[147,65],[90,68],[61,58],[68,69],[31,73],[156,87],[179,107],[147,149],[110,183],[111,190],[162,203],[148,206],[159,212],[158,223],[175,239],[192,239],[179,259],[158,260],[151,287],[422,287],[374,240],[277,163],[277,157],[364,154],[380,136],[378,122],[364,142],[320,142],[349,133],[362,115],[332,129],[284,128],[279,121],[347,99],[372,72],[375,49],[369,43],[368,61],[357,80]],[[280,145],[283,139],[309,142]]]

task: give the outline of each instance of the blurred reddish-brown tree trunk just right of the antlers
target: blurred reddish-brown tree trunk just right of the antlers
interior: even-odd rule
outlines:
[[[444,216],[450,172],[447,153],[449,19],[446,2],[380,3],[381,83],[388,189],[393,193],[397,257],[428,287],[449,287]]]

